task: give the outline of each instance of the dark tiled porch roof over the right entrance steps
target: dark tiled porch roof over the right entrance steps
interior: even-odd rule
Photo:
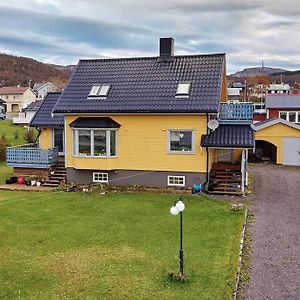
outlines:
[[[225,125],[203,135],[202,147],[226,147],[226,148],[253,148],[255,145],[255,134],[251,125]]]

